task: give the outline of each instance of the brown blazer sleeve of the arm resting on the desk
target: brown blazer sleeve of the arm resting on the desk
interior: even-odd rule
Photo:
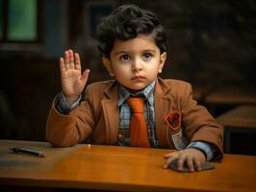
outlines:
[[[216,149],[214,159],[223,157],[223,128],[209,111],[192,99],[192,85],[185,84],[181,101],[183,124],[191,141],[203,141]]]

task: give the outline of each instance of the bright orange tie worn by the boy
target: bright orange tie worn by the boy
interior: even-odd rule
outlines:
[[[149,148],[147,128],[144,117],[144,99],[133,97],[127,99],[127,104],[132,108],[130,146]]]

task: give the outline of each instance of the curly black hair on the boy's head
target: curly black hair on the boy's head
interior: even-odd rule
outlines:
[[[151,35],[161,54],[167,51],[167,39],[157,16],[136,5],[123,5],[100,20],[97,27],[101,57],[110,58],[115,39],[128,40],[138,35]]]

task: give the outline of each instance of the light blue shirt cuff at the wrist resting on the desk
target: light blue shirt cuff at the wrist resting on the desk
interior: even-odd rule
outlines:
[[[202,141],[193,141],[186,148],[195,148],[202,151],[208,161],[214,158],[216,152],[213,146]]]

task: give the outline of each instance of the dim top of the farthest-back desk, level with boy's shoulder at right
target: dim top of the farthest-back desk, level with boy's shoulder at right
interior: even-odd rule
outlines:
[[[217,105],[255,105],[255,87],[222,87],[213,90],[205,98],[208,104]]]

